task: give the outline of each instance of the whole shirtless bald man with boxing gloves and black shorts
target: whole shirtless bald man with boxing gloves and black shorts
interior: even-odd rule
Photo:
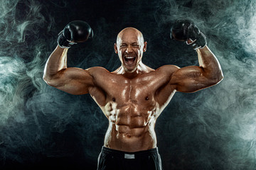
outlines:
[[[90,94],[109,120],[98,170],[161,169],[154,132],[156,119],[176,91],[198,91],[223,79],[206,37],[191,21],[177,21],[171,30],[171,38],[187,42],[196,50],[199,66],[147,67],[142,63],[147,45],[142,33],[136,28],[124,28],[114,43],[114,52],[122,63],[117,70],[67,67],[68,48],[88,38],[92,38],[92,29],[87,23],[69,23],[59,34],[43,79],[69,94]]]

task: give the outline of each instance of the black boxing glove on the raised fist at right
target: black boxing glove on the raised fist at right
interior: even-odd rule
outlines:
[[[171,28],[171,39],[178,41],[186,41],[194,50],[206,46],[206,35],[201,33],[198,27],[188,20],[177,20]],[[191,42],[188,43],[188,40]]]

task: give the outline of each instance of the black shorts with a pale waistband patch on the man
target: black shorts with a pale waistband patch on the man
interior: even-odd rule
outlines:
[[[139,152],[122,152],[102,147],[97,170],[161,170],[157,147]]]

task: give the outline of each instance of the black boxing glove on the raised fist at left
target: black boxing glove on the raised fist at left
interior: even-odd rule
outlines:
[[[92,28],[85,21],[72,21],[58,34],[58,45],[69,48],[78,42],[85,42],[93,37]]]

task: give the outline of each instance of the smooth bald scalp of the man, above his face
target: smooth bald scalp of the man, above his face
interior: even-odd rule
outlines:
[[[127,27],[127,28],[124,28],[123,30],[121,30],[120,33],[117,35],[117,44],[120,42],[120,40],[122,40],[122,37],[127,36],[127,35],[137,36],[137,38],[139,39],[139,43],[142,43],[142,44],[144,43],[144,38],[143,38],[142,32],[140,32],[136,28]]]

